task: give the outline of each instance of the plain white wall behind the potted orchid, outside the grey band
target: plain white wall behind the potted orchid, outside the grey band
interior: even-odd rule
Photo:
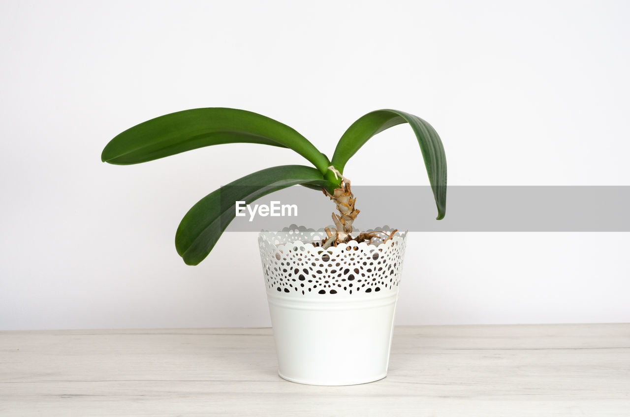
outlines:
[[[173,111],[256,111],[331,156],[353,120],[396,108],[440,133],[450,185],[630,185],[628,21],[627,1],[1,1],[0,329],[270,325],[256,234],[191,267],[175,229],[220,185],[307,162],[247,144],[100,162]],[[404,125],[345,173],[428,183]],[[629,249],[627,233],[412,233],[397,323],[630,321]]]

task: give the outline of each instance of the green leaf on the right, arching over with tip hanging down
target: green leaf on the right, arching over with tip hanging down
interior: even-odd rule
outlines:
[[[333,155],[332,164],[343,173],[348,159],[370,137],[401,123],[409,123],[416,134],[437,205],[437,219],[443,219],[446,212],[446,155],[444,146],[435,129],[420,117],[398,110],[376,110],[367,113],[352,123],[352,126],[341,136]]]

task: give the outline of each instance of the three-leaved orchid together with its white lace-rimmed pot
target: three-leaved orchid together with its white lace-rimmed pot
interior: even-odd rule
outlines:
[[[401,123],[411,125],[420,144],[440,220],[447,182],[442,141],[431,125],[403,111],[359,118],[341,136],[332,159],[289,126],[233,108],[184,110],[140,123],[113,138],[101,159],[137,164],[236,142],[287,147],[304,156],[314,167],[262,169],[203,197],[181,220],[175,246],[186,264],[197,265],[236,217],[238,203],[294,185],[323,191],[338,210],[333,225],[262,231],[258,239],[278,373],[306,384],[361,384],[387,374],[406,232],[355,233],[359,210],[343,169],[370,137]]]

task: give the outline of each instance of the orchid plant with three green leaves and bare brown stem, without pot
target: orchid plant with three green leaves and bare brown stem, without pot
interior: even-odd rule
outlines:
[[[343,169],[370,137],[401,123],[409,123],[427,168],[437,205],[437,219],[446,209],[446,157],[442,140],[421,118],[397,110],[367,113],[346,130],[332,159],[319,152],[306,137],[272,118],[234,108],[196,108],[178,111],[140,123],[114,137],[103,149],[101,160],[110,164],[138,164],[204,146],[252,143],[286,147],[305,157],[312,166],[282,165],[262,169],[212,191],[193,205],[175,234],[177,252],[188,265],[197,265],[212,251],[228,224],[236,217],[236,202],[252,203],[260,197],[294,185],[323,191],[335,202],[335,227],[326,228],[331,245],[371,240],[372,232],[352,237],[359,210]],[[387,239],[387,237],[382,237]]]

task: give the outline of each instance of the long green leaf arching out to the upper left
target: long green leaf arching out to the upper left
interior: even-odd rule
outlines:
[[[272,118],[235,108],[195,108],[140,123],[103,149],[103,162],[137,164],[203,146],[254,143],[288,147],[325,173],[328,158],[296,130]]]

